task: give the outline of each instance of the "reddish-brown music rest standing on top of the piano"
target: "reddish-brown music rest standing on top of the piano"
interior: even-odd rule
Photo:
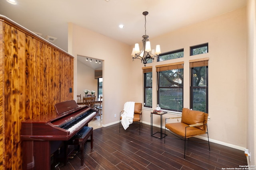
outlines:
[[[54,105],[54,107],[56,109],[57,114],[61,115],[78,108],[78,105],[76,101],[68,100],[68,101],[57,103]]]

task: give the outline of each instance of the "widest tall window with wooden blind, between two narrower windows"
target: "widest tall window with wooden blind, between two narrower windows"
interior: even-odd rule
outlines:
[[[161,109],[182,111],[183,64],[184,62],[156,66],[158,72],[157,101]]]

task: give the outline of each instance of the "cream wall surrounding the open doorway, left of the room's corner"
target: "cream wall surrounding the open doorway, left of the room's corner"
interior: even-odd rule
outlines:
[[[72,23],[69,23],[68,37],[68,46],[72,47],[69,50],[72,51],[73,56],[90,56],[103,61],[102,126],[118,121],[119,117],[114,117],[114,114],[119,115],[124,103],[129,100],[129,46]],[[75,58],[74,98],[77,94],[78,73],[76,70],[77,59]]]

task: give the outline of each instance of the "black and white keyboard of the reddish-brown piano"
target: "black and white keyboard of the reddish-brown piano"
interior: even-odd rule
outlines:
[[[95,113],[96,113],[96,111],[94,111],[94,112],[88,111],[88,112],[78,116],[76,119],[66,123],[65,125],[62,125],[61,128],[70,131],[70,133],[73,133],[73,131],[75,131],[77,129],[77,127],[82,125],[84,123],[84,121],[90,119]]]

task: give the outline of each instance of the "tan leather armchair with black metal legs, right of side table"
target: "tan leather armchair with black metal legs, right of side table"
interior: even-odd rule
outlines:
[[[181,136],[184,139],[184,143],[185,143],[184,158],[185,158],[185,152],[186,152],[186,141],[190,137],[207,134],[209,151],[210,151],[210,143],[209,143],[209,135],[208,135],[208,127],[207,127],[208,113],[183,108],[181,117],[166,118],[165,122],[167,122],[167,119],[173,119],[173,118],[175,119],[181,118],[181,121],[177,123],[166,123],[164,133],[166,134],[166,129],[168,129],[175,136],[179,138]],[[164,143],[165,143],[165,138],[164,138]]]

